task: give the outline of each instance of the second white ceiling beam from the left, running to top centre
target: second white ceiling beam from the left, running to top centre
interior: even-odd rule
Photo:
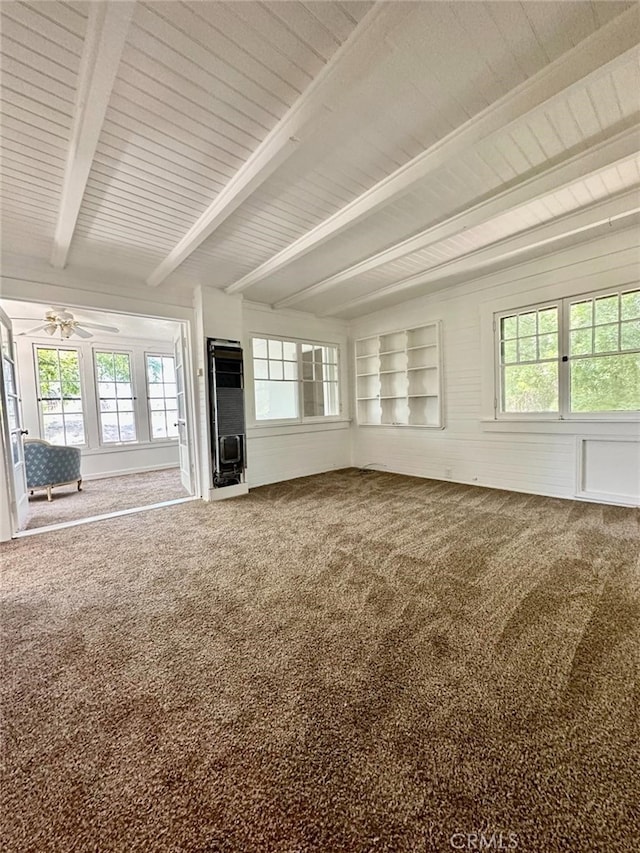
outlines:
[[[256,148],[204,213],[147,278],[157,287],[194,252],[275,170],[310,139],[327,112],[350,86],[363,79],[381,53],[386,36],[411,14],[411,4],[375,4],[287,114]]]

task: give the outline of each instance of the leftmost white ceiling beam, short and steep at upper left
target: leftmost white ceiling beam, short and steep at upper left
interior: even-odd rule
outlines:
[[[67,263],[134,8],[135,2],[89,4],[71,139],[51,253],[51,264],[60,269]]]

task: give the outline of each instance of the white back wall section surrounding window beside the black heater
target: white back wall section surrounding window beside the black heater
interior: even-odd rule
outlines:
[[[244,303],[242,317],[247,377],[249,485],[261,486],[349,467],[351,447],[347,324],[339,320],[321,320],[299,311],[273,311],[266,306],[247,302]],[[251,337],[254,335],[338,344],[342,390],[340,418],[320,424],[256,424],[251,370]]]

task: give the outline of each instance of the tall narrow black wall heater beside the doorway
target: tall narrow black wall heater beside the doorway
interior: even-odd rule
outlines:
[[[244,370],[239,341],[207,338],[211,466],[214,488],[244,482]]]

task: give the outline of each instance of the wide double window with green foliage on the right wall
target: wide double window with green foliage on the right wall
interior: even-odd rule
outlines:
[[[499,414],[640,410],[640,290],[571,297],[496,319]]]

